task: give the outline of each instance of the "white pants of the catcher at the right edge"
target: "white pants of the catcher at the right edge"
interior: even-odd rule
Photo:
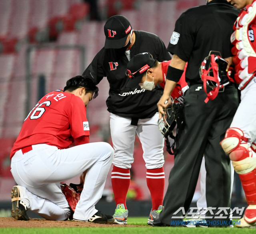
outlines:
[[[256,144],[256,77],[241,90],[241,102],[230,127],[241,129],[249,145]]]

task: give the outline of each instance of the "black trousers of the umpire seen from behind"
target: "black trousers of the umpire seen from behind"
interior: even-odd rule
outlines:
[[[171,226],[180,226],[178,222],[184,216],[180,210],[184,207],[187,212],[198,181],[202,157],[206,166],[206,202],[208,207],[230,207],[230,159],[220,147],[226,130],[230,127],[238,107],[238,91],[230,85],[224,92],[219,92],[214,100],[205,103],[206,93],[203,85],[191,85],[184,95],[185,128],[179,139],[178,151],[174,156],[174,167],[170,171],[169,185],[164,197],[164,209],[160,213],[160,221]],[[194,210],[196,212],[196,210]],[[229,212],[228,212],[229,213]],[[216,218],[217,216],[227,218]],[[209,226],[227,226],[229,214],[222,211],[215,215],[206,213]],[[216,222],[213,222],[216,221]],[[217,221],[220,221],[217,225]],[[214,223],[214,224],[213,224]]]

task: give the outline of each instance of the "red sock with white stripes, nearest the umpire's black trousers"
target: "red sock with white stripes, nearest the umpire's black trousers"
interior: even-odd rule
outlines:
[[[164,199],[164,167],[147,169],[147,185],[152,199],[152,210],[162,206]]]

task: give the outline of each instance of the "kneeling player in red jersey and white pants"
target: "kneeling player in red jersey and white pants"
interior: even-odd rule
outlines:
[[[113,223],[114,217],[95,209],[114,157],[108,143],[89,143],[86,107],[98,87],[85,76],[69,79],[64,91],[45,95],[26,117],[10,158],[12,216],[29,220],[26,211],[47,220],[67,220],[71,209],[60,182],[87,170],[84,190],[76,205],[76,221]],[[68,148],[75,141],[76,146]]]

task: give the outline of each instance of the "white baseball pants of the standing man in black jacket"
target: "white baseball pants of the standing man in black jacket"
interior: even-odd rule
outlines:
[[[135,134],[138,134],[143,149],[143,159],[147,169],[164,165],[164,137],[158,128],[159,114],[152,118],[139,119],[138,126],[131,125],[131,118],[110,114],[110,131],[115,150],[113,164],[130,169],[134,162]]]

